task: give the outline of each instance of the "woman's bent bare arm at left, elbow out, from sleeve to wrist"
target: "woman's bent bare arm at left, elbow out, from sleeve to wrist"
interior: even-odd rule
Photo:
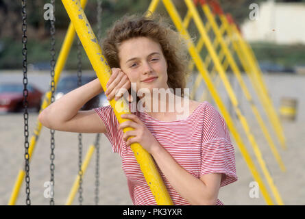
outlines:
[[[40,112],[38,120],[49,129],[79,133],[103,133],[106,127],[94,110],[80,108],[97,94],[103,92],[99,79],[86,83],[65,94]]]

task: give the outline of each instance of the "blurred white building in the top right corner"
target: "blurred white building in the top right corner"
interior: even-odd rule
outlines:
[[[249,12],[252,10],[249,9]],[[248,41],[267,41],[279,44],[305,44],[305,3],[260,3],[256,20],[241,25]]]

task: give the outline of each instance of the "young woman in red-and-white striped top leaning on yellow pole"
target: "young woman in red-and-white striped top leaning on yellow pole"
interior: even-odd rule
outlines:
[[[101,42],[112,68],[106,95],[109,100],[119,99],[120,88],[145,90],[134,99],[129,96],[129,101],[141,103],[137,105],[142,105],[142,110],[124,114],[122,117],[130,121],[121,125],[111,106],[81,111],[86,101],[102,92],[95,79],[62,96],[38,118],[50,129],[104,133],[114,153],[122,158],[134,205],[156,205],[156,201],[130,149],[133,142],[154,157],[175,205],[223,205],[217,198],[219,188],[237,179],[234,148],[222,116],[210,103],[188,101],[183,90],[176,93],[176,88],[186,86],[184,46],[179,34],[160,19],[125,16]],[[154,90],[169,88],[172,92],[167,92],[167,98],[153,95]],[[171,110],[170,100],[181,101],[188,114],[178,112],[176,107]],[[157,110],[153,110],[157,104]],[[162,104],[166,110],[161,109]],[[125,127],[134,130],[123,133]]]

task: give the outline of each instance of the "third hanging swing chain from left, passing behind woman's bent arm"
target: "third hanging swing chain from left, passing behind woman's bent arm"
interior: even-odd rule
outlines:
[[[80,39],[77,40],[77,78],[78,78],[78,86],[82,86],[82,53],[81,53],[82,44],[80,42]],[[79,188],[78,188],[78,201],[80,205],[82,205],[83,197],[82,197],[82,177],[83,177],[83,171],[82,171],[82,133],[78,133],[78,175],[80,177],[79,181]]]

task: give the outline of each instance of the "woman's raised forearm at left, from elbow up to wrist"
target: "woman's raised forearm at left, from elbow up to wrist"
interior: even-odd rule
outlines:
[[[40,120],[48,121],[48,123],[62,123],[70,120],[87,101],[102,91],[99,79],[94,79],[51,103],[40,113]]]

